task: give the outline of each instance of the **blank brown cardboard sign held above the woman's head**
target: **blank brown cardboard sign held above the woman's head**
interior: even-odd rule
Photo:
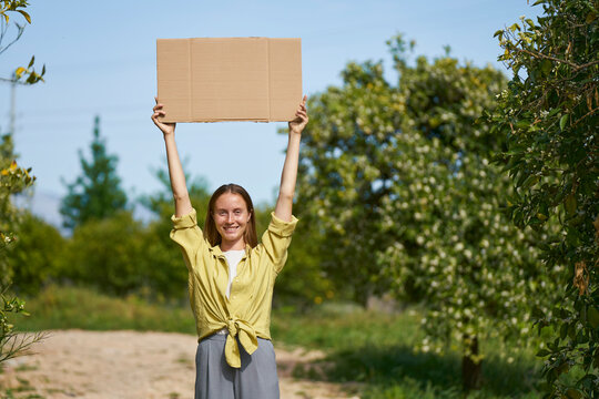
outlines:
[[[158,39],[165,122],[291,121],[302,102],[301,39]]]

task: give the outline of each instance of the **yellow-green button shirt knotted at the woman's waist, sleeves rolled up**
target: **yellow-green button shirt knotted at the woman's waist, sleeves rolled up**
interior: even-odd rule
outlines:
[[[257,348],[257,339],[271,339],[271,307],[274,282],[287,259],[287,247],[297,224],[284,222],[271,214],[271,224],[262,243],[246,245],[245,256],[237,265],[237,276],[226,297],[229,265],[220,246],[211,246],[197,226],[195,209],[172,216],[171,239],[181,246],[189,270],[190,304],[201,340],[223,328],[229,335],[225,358],[231,367],[241,367],[238,338],[247,354]]]

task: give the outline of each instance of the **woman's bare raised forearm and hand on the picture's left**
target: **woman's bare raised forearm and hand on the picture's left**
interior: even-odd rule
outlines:
[[[185,184],[185,174],[183,173],[183,166],[181,166],[181,160],[179,158],[179,152],[176,151],[176,142],[174,139],[175,123],[165,123],[159,120],[159,117],[166,115],[166,113],[162,111],[162,108],[163,105],[159,104],[156,99],[152,121],[164,135],[166,161],[169,162],[169,176],[171,177],[171,190],[173,191],[173,198],[175,202],[175,216],[180,217],[192,212],[192,205]]]

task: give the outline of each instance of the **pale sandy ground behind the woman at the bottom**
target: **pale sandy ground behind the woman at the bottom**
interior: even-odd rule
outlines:
[[[12,388],[14,398],[192,399],[196,345],[183,334],[51,331],[34,355],[9,361],[0,397]],[[341,385],[292,377],[322,354],[275,348],[281,398],[357,398]]]

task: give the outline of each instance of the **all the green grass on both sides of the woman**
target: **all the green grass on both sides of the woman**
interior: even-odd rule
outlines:
[[[82,328],[134,329],[195,334],[187,306],[152,305],[129,297],[108,297],[89,289],[49,287],[27,304],[31,317],[16,320],[21,330]],[[362,398],[463,398],[461,358],[414,350],[422,338],[417,310],[400,314],[367,313],[329,304],[307,315],[274,311],[276,342],[319,349],[326,354],[314,369],[295,375],[333,382],[359,382]],[[498,342],[486,342],[484,388],[469,398],[540,398],[535,389],[540,362],[532,349],[501,356]],[[505,349],[504,349],[505,350]],[[318,371],[316,371],[318,370]],[[323,372],[324,370],[324,372]]]

